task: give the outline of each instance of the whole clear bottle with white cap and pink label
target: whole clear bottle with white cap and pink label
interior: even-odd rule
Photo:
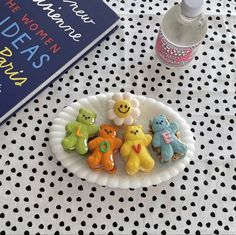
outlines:
[[[156,54],[171,67],[189,63],[207,30],[203,0],[182,0],[164,16],[156,41]]]

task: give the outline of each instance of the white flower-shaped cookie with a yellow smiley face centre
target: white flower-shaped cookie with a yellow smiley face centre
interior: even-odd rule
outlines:
[[[132,125],[139,116],[139,101],[130,93],[115,93],[108,100],[107,117],[117,126]]]

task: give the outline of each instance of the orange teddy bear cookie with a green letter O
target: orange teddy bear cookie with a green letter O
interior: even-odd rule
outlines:
[[[87,158],[87,163],[92,169],[104,169],[108,173],[115,173],[114,151],[122,145],[122,140],[116,137],[117,127],[102,125],[99,136],[88,143],[93,153]]]

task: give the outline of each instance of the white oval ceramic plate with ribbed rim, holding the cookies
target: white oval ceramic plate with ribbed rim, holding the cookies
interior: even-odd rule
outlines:
[[[188,145],[186,156],[182,159],[171,163],[161,163],[158,161],[156,153],[150,151],[153,158],[156,160],[154,169],[149,173],[139,172],[134,176],[129,176],[124,171],[124,162],[119,156],[115,155],[115,162],[117,166],[117,173],[114,175],[107,174],[104,171],[93,171],[86,163],[86,157],[81,157],[76,153],[66,153],[61,141],[65,136],[65,126],[71,121],[75,121],[81,107],[87,108],[97,113],[96,124],[110,123],[106,119],[107,115],[107,100],[113,94],[101,94],[97,96],[90,96],[71,104],[64,108],[54,120],[50,129],[50,145],[52,151],[62,165],[69,171],[88,182],[96,183],[112,188],[139,188],[148,187],[150,185],[157,185],[163,181],[169,180],[182,171],[193,157],[194,153],[194,139],[187,122],[170,107],[158,102],[154,99],[146,98],[144,96],[136,96],[140,102],[141,116],[137,124],[143,125],[144,131],[149,131],[149,120],[158,114],[165,114],[170,121],[176,121],[180,128],[180,139]]]

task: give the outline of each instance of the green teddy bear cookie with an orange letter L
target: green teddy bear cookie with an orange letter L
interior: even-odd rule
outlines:
[[[99,126],[95,125],[96,113],[80,108],[75,122],[66,125],[66,137],[62,140],[65,151],[76,151],[80,155],[88,152],[88,139],[99,132]]]

